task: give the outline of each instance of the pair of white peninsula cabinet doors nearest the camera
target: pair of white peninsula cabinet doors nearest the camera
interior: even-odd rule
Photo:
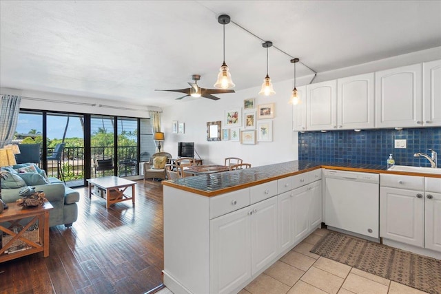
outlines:
[[[277,255],[276,197],[210,220],[210,293],[232,293]]]

